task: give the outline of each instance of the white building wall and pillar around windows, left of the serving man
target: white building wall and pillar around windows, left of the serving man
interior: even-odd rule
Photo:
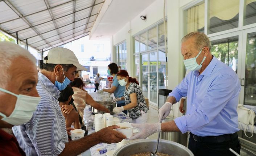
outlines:
[[[183,59],[181,55],[181,38],[183,37],[183,8],[196,0],[166,0],[166,16],[168,19],[168,89],[174,89],[183,79]],[[127,42],[127,71],[133,76],[132,36],[149,28],[163,19],[164,0],[156,0],[148,8],[138,14],[113,35],[113,45],[124,40]],[[140,16],[146,16],[143,21]],[[130,31],[129,31],[130,30]],[[128,31],[130,33],[128,33]],[[181,116],[179,103],[174,105],[174,116]]]

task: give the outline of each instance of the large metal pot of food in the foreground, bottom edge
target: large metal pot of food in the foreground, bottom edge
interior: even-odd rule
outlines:
[[[140,152],[154,152],[157,140],[145,139],[138,140],[120,147],[113,156],[130,156]],[[159,140],[158,152],[173,156],[194,156],[185,146],[169,140]]]

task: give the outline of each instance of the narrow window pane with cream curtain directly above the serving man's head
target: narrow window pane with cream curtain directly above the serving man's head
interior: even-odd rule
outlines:
[[[205,32],[205,3],[199,3],[184,11],[184,34]]]

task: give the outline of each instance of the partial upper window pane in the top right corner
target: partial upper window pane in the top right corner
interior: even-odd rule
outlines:
[[[245,0],[244,5],[244,25],[256,23],[256,0]]]

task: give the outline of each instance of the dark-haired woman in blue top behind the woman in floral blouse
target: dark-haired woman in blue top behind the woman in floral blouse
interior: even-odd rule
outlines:
[[[118,72],[118,67],[116,63],[110,63],[108,65],[108,75],[112,75],[113,77],[113,83],[112,87],[110,89],[101,89],[98,91],[98,93],[108,92],[108,93],[114,93],[114,96],[116,98],[120,98],[124,96],[124,90],[125,86],[121,86],[118,83],[118,80],[116,78],[116,74]],[[117,107],[125,106],[125,100],[117,101]],[[127,110],[123,110],[123,113],[127,115]]]

